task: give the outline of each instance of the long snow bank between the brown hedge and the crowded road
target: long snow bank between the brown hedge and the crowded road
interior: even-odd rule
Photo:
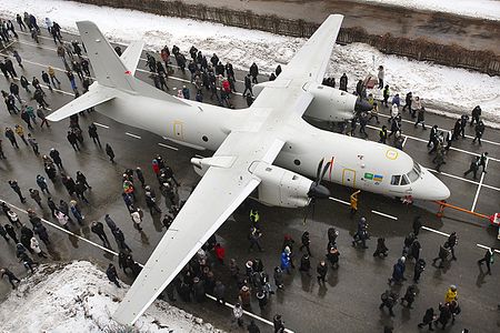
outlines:
[[[117,42],[127,43],[143,38],[150,49],[177,44],[184,52],[196,46],[209,57],[217,52],[223,62],[230,61],[239,69],[247,70],[256,62],[261,72],[272,71],[277,63],[287,63],[306,41],[262,31],[71,1],[0,0],[0,13],[3,16],[12,17],[24,11],[37,16],[40,22],[50,17],[71,32],[77,32],[76,21],[92,20],[107,37]],[[338,80],[343,72],[347,73],[351,91],[359,79],[364,79],[369,73],[377,74],[377,67],[383,64],[387,69],[386,82],[392,87],[393,93],[399,92],[403,98],[408,91],[412,91],[413,95],[423,99],[428,110],[452,117],[469,113],[480,104],[488,123],[500,127],[499,77],[386,56],[360,43],[337,46],[330,64],[329,75]],[[380,91],[377,93],[380,94]]]

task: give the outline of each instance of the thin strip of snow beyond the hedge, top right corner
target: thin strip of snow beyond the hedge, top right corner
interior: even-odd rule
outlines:
[[[443,11],[459,16],[476,17],[489,20],[500,20],[500,1],[498,0],[357,0],[378,2],[423,9]]]

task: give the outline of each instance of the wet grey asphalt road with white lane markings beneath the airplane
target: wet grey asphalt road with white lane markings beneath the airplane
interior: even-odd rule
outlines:
[[[47,33],[42,32],[43,37]],[[74,39],[64,34],[64,40]],[[27,78],[40,77],[41,70],[46,70],[48,64],[61,69],[62,62],[57,58],[54,44],[51,39],[41,38],[39,46],[34,44],[28,36],[21,34],[20,40],[12,43],[9,49],[0,50],[1,54],[10,54],[16,48],[24,59],[24,69],[17,68],[18,74],[23,73]],[[187,52],[187,50],[182,50]],[[59,80],[62,82],[61,90],[49,92],[48,102],[51,109],[57,109],[72,99],[69,81],[61,71],[57,71]],[[152,83],[144,70],[144,61],[141,60],[137,77],[148,83]],[[243,73],[238,71],[237,79],[242,79]],[[78,80],[78,79],[77,79]],[[8,89],[8,81],[0,78],[0,89]],[[182,84],[189,84],[189,77],[176,70],[176,73],[168,81],[171,90],[179,89]],[[151,88],[154,89],[154,88]],[[238,91],[242,91],[241,82],[238,82]],[[21,92],[21,98],[28,100],[29,97]],[[207,100],[209,100],[207,98]],[[233,102],[237,108],[244,107],[244,100],[236,94]],[[30,102],[30,104],[34,104]],[[2,107],[0,121],[2,128],[14,123],[21,123],[19,115],[9,115]],[[138,110],[141,112],[141,110]],[[166,110],[168,112],[168,110]],[[234,110],[238,112],[238,110]],[[382,110],[387,114],[387,110]],[[421,128],[414,129],[408,114],[403,114],[403,133],[408,135],[404,150],[424,167],[432,167],[431,157],[427,153],[428,131]],[[381,117],[381,124],[386,123],[387,115]],[[89,193],[90,204],[83,206],[86,215],[86,226],[71,225],[71,231],[91,242],[100,244],[98,238],[89,230],[88,224],[92,220],[103,221],[104,214],[109,213],[126,233],[127,242],[133,250],[134,259],[144,263],[159,242],[164,229],[161,229],[160,216],[146,215],[143,232],[139,233],[133,229],[127,209],[121,199],[121,174],[126,168],[140,165],[146,172],[147,182],[156,186],[156,180],[151,172],[150,161],[156,153],[161,153],[167,163],[172,167],[182,186],[180,195],[187,198],[190,189],[198,182],[189,160],[194,154],[209,157],[210,152],[194,151],[180,147],[159,138],[158,135],[138,130],[133,127],[123,125],[106,118],[106,115],[92,113],[80,118],[83,129],[94,121],[100,124],[99,133],[101,142],[109,142],[117,154],[117,164],[111,164],[99,147],[93,144],[87,137],[82,152],[76,153],[66,140],[66,129],[68,121],[52,123],[50,129],[33,130],[33,135],[40,143],[42,153],[48,153],[50,148],[57,148],[62,155],[64,169],[74,176],[76,171],[81,170],[87,174],[92,190]],[[438,124],[441,128],[452,128],[453,120],[428,114],[428,124]],[[369,134],[372,140],[377,140],[377,127],[381,124],[371,123]],[[324,124],[316,124],[324,127]],[[128,134],[127,134],[128,133]],[[460,139],[448,154],[448,163],[443,165],[442,173],[438,176],[450,188],[451,198],[449,202],[466,209],[472,209],[484,214],[492,214],[500,208],[500,135],[498,130],[487,129],[482,147],[471,144],[470,137]],[[132,135],[130,135],[132,134]],[[468,128],[468,134],[472,130]],[[34,176],[43,174],[43,164],[40,158],[36,157],[30,148],[19,142],[21,149],[14,151],[9,142],[3,141],[3,148],[8,160],[0,160],[0,199],[16,205],[21,210],[33,208],[34,202],[30,199],[27,204],[21,204],[16,193],[13,193],[7,181],[18,179],[23,192],[36,186]],[[334,144],[334,143],[332,143]],[[482,151],[489,151],[488,173],[481,175],[478,181],[463,179],[462,172],[468,168],[470,159]],[[51,183],[50,190],[56,202],[59,199],[69,201],[64,188],[58,180]],[[326,286],[319,286],[316,279],[300,275],[293,271],[286,276],[286,289],[278,292],[270,300],[268,307],[260,311],[257,300],[252,299],[251,311],[263,317],[272,319],[274,313],[282,313],[287,327],[294,332],[381,332],[382,326],[393,325],[394,332],[414,332],[417,323],[420,322],[426,309],[437,307],[439,302],[444,300],[444,293],[450,284],[458,285],[460,306],[462,313],[458,316],[453,326],[447,329],[449,332],[461,332],[463,327],[470,332],[497,332],[500,326],[500,316],[497,304],[500,299],[500,284],[497,282],[499,270],[493,265],[493,275],[484,275],[476,264],[482,258],[484,250],[479,245],[499,246],[497,241],[497,230],[488,225],[488,221],[467,215],[463,213],[447,210],[443,219],[438,219],[436,212],[438,205],[432,202],[416,202],[413,205],[403,205],[390,198],[383,198],[370,193],[362,193],[360,196],[360,211],[358,216],[351,219],[349,208],[344,204],[349,199],[350,190],[331,185],[332,200],[319,202],[317,204],[313,219],[303,223],[302,210],[287,210],[280,208],[266,208],[254,202],[246,202],[217,232],[218,239],[227,249],[227,258],[237,259],[240,268],[244,262],[257,255],[263,261],[266,270],[271,273],[272,268],[279,264],[281,243],[284,234],[292,235],[300,244],[300,235],[304,230],[311,233],[312,242],[312,265],[316,268],[318,260],[324,254],[327,245],[327,230],[336,226],[340,231],[338,239],[339,251],[341,252],[339,270],[330,270]],[[138,202],[144,201],[142,191],[139,191]],[[263,229],[262,245],[264,252],[256,254],[248,252],[248,211],[250,206],[258,206]],[[48,210],[41,211],[44,219],[57,224],[50,218]],[[147,209],[146,209],[147,211]],[[368,242],[369,250],[362,251],[350,245],[351,234],[356,231],[357,219],[367,216],[370,224],[371,240]],[[419,295],[413,304],[413,310],[408,310],[398,305],[396,317],[391,319],[386,312],[378,309],[380,294],[388,287],[387,279],[391,275],[392,265],[401,254],[404,236],[411,231],[413,216],[421,215],[424,225],[428,228],[419,236],[422,244],[422,258],[428,261],[428,268],[418,285]],[[27,216],[20,212],[21,221],[27,222]],[[8,223],[6,216],[0,216],[1,223]],[[70,261],[89,260],[104,268],[109,261],[117,264],[117,258],[109,252],[86,242],[74,235],[67,234],[52,226],[48,226],[53,246],[49,250],[50,259],[47,261]],[[459,235],[457,246],[458,261],[450,262],[446,269],[438,270],[430,265],[430,261],[438,253],[439,245],[446,241],[446,235],[456,231]],[[111,236],[108,232],[108,236]],[[390,249],[389,256],[384,260],[374,259],[372,251],[376,248],[376,239],[383,236]],[[117,246],[113,242],[113,250]],[[44,248],[42,245],[42,248]],[[20,276],[26,276],[24,270],[14,258],[14,248],[0,241],[0,264],[9,266]],[[298,252],[298,245],[294,249]],[[300,259],[300,253],[296,255],[296,262]],[[407,278],[412,276],[413,264],[407,265]],[[216,265],[214,272],[218,278],[227,282],[228,301],[234,303],[237,290],[228,281],[227,268]],[[119,272],[120,278],[130,282],[129,276]],[[396,286],[394,290],[404,293],[409,282],[403,286]],[[6,296],[10,291],[7,281],[0,284],[0,294]],[[203,304],[177,302],[177,306],[190,311],[204,320],[214,323],[217,326],[230,332],[241,332],[230,321],[230,310],[220,309],[214,303],[208,301]],[[248,322],[248,321],[247,321]],[[260,326],[269,332],[270,326],[261,323]]]

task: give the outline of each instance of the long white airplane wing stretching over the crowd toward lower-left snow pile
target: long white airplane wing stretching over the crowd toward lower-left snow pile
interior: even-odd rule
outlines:
[[[132,324],[191,260],[203,243],[259,185],[253,161],[272,163],[284,142],[271,135],[232,132],[216,152],[222,167],[210,167],[157,245],[120,303],[114,320]],[[228,159],[232,157],[232,159]]]

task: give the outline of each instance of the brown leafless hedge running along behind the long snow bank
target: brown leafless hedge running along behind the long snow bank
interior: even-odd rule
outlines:
[[[144,12],[210,21],[246,29],[257,29],[291,37],[310,37],[319,27],[303,20],[289,20],[277,16],[256,14],[252,11],[237,11],[227,8],[207,7],[203,4],[186,4],[181,1],[161,0],[77,0],[79,2],[134,9]],[[421,61],[449,67],[458,67],[500,75],[500,56],[491,51],[473,51],[456,44],[439,44],[423,38],[408,39],[370,34],[362,28],[342,28],[337,42],[348,44],[367,43],[387,54],[403,56]]]

